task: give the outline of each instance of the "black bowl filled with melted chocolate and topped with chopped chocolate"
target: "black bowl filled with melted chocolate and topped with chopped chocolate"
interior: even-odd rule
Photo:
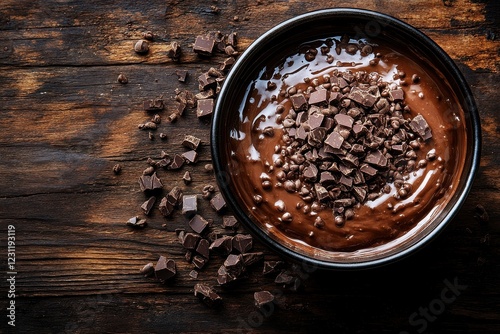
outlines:
[[[417,29],[359,9],[277,25],[220,92],[221,192],[264,244],[320,268],[365,268],[422,247],[471,187],[480,128],[453,61]]]

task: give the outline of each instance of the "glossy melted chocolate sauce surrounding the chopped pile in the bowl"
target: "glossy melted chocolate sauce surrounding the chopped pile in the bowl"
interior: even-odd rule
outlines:
[[[340,37],[333,40],[338,43]],[[394,47],[371,43],[373,52],[369,54],[362,55],[360,50],[348,53],[337,47],[338,54],[333,45],[327,56],[321,49],[326,46],[324,41],[312,41],[310,45],[317,50],[313,60],[307,59],[302,51],[290,52],[291,56],[284,61],[263,68],[259,78],[248,86],[241,103],[239,122],[231,129],[228,143],[232,181],[255,222],[292,248],[305,250],[313,246],[320,253],[370,251],[418,233],[448,203],[460,181],[466,159],[464,114],[446,80],[438,71],[420,66],[418,60],[406,57]],[[395,185],[388,183],[388,193],[354,208],[354,217],[342,226],[335,224],[331,209],[304,213],[301,204],[297,208],[297,203],[303,204],[302,198],[280,186],[276,178],[279,167],[273,164],[275,147],[284,145],[282,119],[292,108],[285,92],[291,87],[305,91],[312,82],[325,84],[324,75],[334,71],[377,72],[383,81],[402,88],[404,102],[410,107],[405,118],[421,114],[432,131],[432,138],[423,141],[416,150],[416,161],[425,159],[429,152],[436,156],[425,167],[405,175],[405,182],[412,185],[408,197],[399,198]],[[401,72],[405,75],[398,76]],[[419,80],[411,80],[413,75]],[[276,112],[279,104],[285,107],[281,114]],[[270,127],[274,135],[266,136],[263,131]],[[263,173],[270,176],[273,185],[270,189],[262,186]],[[255,195],[260,196],[259,203]],[[282,221],[283,207],[293,215],[292,221]],[[325,222],[321,228],[314,226],[317,216]]]

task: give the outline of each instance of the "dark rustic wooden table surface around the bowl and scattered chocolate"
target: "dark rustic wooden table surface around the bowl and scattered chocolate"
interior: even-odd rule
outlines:
[[[313,272],[298,292],[283,290],[262,265],[232,288],[215,287],[223,306],[211,309],[193,295],[195,283],[216,285],[223,257],[213,255],[197,279],[184,260],[175,229],[179,211],[155,211],[148,226],[125,225],[146,199],[137,182],[147,158],[184,151],[185,134],[202,140],[200,160],[159,172],[165,189],[201,194],[215,184],[210,121],[189,109],[162,122],[149,140],[137,129],[148,119],[144,100],[163,97],[164,118],[177,107],[175,89],[198,89],[196,78],[225,57],[200,59],[195,37],[236,31],[238,50],[278,22],[306,11],[351,6],[378,10],[421,29],[456,62],[475,95],[482,120],[481,166],[470,196],[445,232],[414,256],[362,272]],[[331,332],[500,333],[499,132],[500,9],[498,1],[96,1],[2,0],[0,4],[0,332]],[[133,51],[143,32],[155,40],[148,55]],[[183,50],[167,57],[171,41]],[[187,83],[175,71],[188,70]],[[117,83],[124,73],[129,83]],[[115,175],[112,168],[121,164]],[[192,173],[193,182],[181,177]],[[200,199],[200,211],[221,228],[221,215]],[[481,204],[489,222],[477,219]],[[158,203],[156,204],[158,205]],[[15,227],[15,298],[7,282],[8,226]],[[240,229],[240,231],[243,231]],[[11,231],[12,232],[12,231]],[[279,257],[264,251],[266,260]],[[139,269],[160,255],[177,263],[167,284]],[[277,294],[259,312],[253,293]],[[15,328],[6,310],[15,301]]]

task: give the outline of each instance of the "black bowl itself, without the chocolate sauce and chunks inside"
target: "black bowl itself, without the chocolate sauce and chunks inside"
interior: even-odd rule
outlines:
[[[288,56],[284,52],[294,46],[344,33],[354,34],[358,39],[383,38],[389,43],[400,45],[404,52],[435,69],[439,77],[448,81],[457,104],[463,111],[467,133],[466,161],[460,175],[456,175],[460,181],[450,200],[425,228],[418,233],[410,233],[411,236],[402,238],[401,242],[396,241],[396,247],[376,254],[364,254],[361,251],[339,255],[318,249],[308,251],[297,249],[290,243],[273,237],[255,221],[255,217],[238,196],[241,189],[235,187],[228,164],[228,129],[237,121],[245,90],[258,77],[259,70],[270,62]],[[294,17],[278,24],[253,42],[239,57],[226,78],[217,100],[211,129],[212,159],[217,182],[236,218],[258,240],[278,254],[295,262],[326,269],[375,267],[401,259],[427,244],[453,219],[465,201],[479,165],[480,145],[477,107],[466,80],[453,60],[416,28],[385,14],[350,8],[325,9]]]

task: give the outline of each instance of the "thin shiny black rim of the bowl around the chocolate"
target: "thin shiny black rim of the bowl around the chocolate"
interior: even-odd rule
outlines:
[[[463,93],[464,101],[461,103],[461,105],[464,109],[464,113],[466,113],[466,115],[470,116],[471,118],[469,122],[470,126],[472,127],[472,138],[470,139],[472,141],[472,156],[469,157],[472,159],[470,163],[470,170],[468,171],[468,174],[465,175],[467,171],[464,169],[463,174],[466,176],[466,180],[463,185],[463,189],[458,194],[458,197],[454,199],[454,204],[447,215],[445,215],[442,221],[429,233],[415,241],[415,243],[413,243],[412,245],[388,256],[367,261],[335,262],[319,260],[296,252],[271,238],[263,231],[261,227],[257,226],[257,224],[251,221],[251,218],[245,214],[242,208],[240,208],[238,202],[236,201],[236,196],[231,194],[228,183],[226,182],[227,175],[221,161],[221,153],[219,150],[219,148],[221,147],[221,136],[219,136],[218,133],[221,130],[220,114],[222,113],[222,102],[224,101],[223,97],[225,95],[231,94],[231,82],[238,79],[235,76],[235,73],[240,70],[240,67],[244,66],[247,58],[252,57],[252,55],[261,47],[261,44],[265,43],[269,39],[272,39],[275,35],[280,35],[283,32],[286,32],[287,29],[291,28],[293,25],[315,19],[329,18],[332,16],[355,16],[356,18],[364,18],[368,20],[384,20],[385,22],[389,22],[392,26],[396,27],[396,29],[400,29],[402,31],[405,31],[406,33],[414,35],[416,40],[421,41],[425,44],[426,47],[432,49],[432,51],[435,53],[435,57],[442,60],[443,65],[446,66],[447,72],[452,74],[454,80],[457,82]],[[465,109],[465,107],[467,107],[467,109]],[[317,269],[350,270],[374,268],[406,258],[407,256],[415,253],[417,250],[421,249],[423,245],[435,239],[435,237],[437,237],[437,235],[439,235],[444,230],[444,228],[449,224],[450,221],[453,220],[453,218],[462,207],[472,187],[477,169],[479,167],[479,160],[481,155],[481,128],[478,109],[471,88],[453,59],[451,59],[451,57],[439,45],[437,45],[436,42],[434,42],[431,38],[429,38],[417,28],[393,16],[367,9],[342,7],[315,10],[285,20],[266,31],[250,44],[250,46],[240,55],[235,64],[232,66],[218,95],[212,117],[213,119],[211,125],[210,140],[214,172],[222,196],[226,200],[228,206],[232,209],[234,215],[240,222],[242,222],[245,228],[247,228],[252,235],[257,236],[259,241],[261,241],[272,251],[283,255],[293,262],[300,262],[304,265],[312,266],[313,268]],[[457,191],[459,190],[460,189],[457,189]]]

